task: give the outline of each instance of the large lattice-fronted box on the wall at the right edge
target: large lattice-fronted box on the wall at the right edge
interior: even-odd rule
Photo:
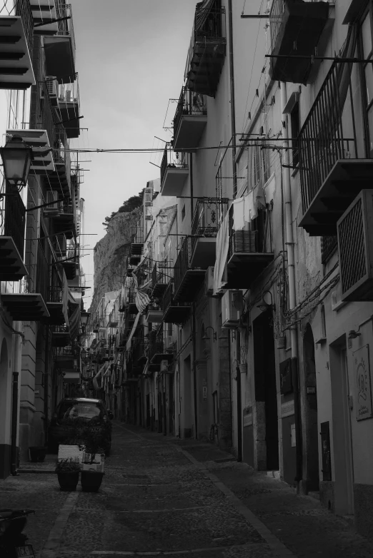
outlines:
[[[362,190],[337,222],[341,300],[373,300],[373,190]]]

